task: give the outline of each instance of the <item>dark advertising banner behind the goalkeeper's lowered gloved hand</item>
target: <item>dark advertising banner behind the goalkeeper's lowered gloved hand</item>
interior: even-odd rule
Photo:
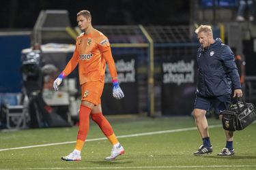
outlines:
[[[112,78],[106,65],[105,85],[102,94],[102,109],[104,114],[138,114],[138,86],[136,71],[136,56],[117,55],[115,67],[118,82],[124,92],[124,98],[117,100],[112,94]]]

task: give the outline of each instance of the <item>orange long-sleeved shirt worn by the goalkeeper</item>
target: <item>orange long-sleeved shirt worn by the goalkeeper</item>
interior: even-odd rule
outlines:
[[[74,54],[66,68],[62,71],[64,76],[69,75],[79,64],[79,82],[104,82],[106,63],[113,81],[117,80],[115,62],[111,54],[109,40],[100,31],[93,29],[91,33],[82,33],[76,38]]]

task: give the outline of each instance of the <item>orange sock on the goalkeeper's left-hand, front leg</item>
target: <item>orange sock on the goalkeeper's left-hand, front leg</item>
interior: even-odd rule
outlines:
[[[79,111],[79,132],[77,134],[76,140],[76,150],[82,150],[83,144],[85,143],[85,139],[87,133],[89,131],[89,115],[91,113],[91,108],[86,107],[85,105],[80,106]]]

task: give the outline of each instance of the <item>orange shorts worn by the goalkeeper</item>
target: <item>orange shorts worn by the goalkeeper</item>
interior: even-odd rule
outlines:
[[[94,105],[101,103],[100,97],[104,88],[103,82],[86,82],[81,85],[82,101],[89,101]]]

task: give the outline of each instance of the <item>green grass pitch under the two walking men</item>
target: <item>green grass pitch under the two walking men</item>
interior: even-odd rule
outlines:
[[[74,149],[78,127],[52,129],[26,129],[0,132],[0,169],[256,169],[256,124],[235,133],[236,154],[230,157],[216,156],[225,146],[225,135],[221,126],[210,129],[213,153],[193,156],[201,145],[201,137],[191,117],[168,118],[109,118],[117,136],[183,129],[182,131],[120,137],[126,154],[111,162],[111,144],[106,139],[87,141],[80,162],[65,162],[60,158]],[[210,118],[209,125],[221,125],[221,121]],[[87,139],[104,135],[94,122],[90,122]],[[23,146],[60,143],[16,150]]]

